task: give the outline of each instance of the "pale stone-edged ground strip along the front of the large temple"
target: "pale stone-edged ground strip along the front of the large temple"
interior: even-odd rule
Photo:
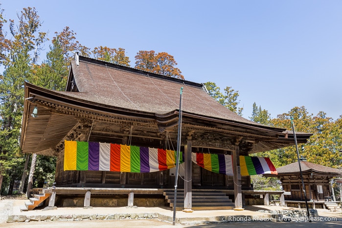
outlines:
[[[44,210],[37,208],[31,211],[20,211],[20,205],[24,205],[27,201],[20,199],[5,199],[0,200],[0,225],[5,225],[10,219],[21,220],[21,222],[34,223],[35,221],[117,221],[117,220],[161,220],[172,222],[173,211],[170,208],[160,207],[91,207],[85,209],[83,207],[58,207],[55,210]],[[210,210],[210,211],[193,211],[186,213],[182,211],[176,212],[176,223],[182,225],[205,224],[208,222],[245,222],[244,219],[249,219],[246,222],[267,222],[273,221],[275,217],[266,211],[273,210],[298,210],[298,208],[285,208],[279,206],[246,206],[243,211],[235,210]],[[264,211],[263,211],[264,210]],[[323,210],[323,209],[322,209]],[[327,210],[324,210],[327,211]],[[278,214],[280,212],[277,212]],[[334,214],[318,216],[338,217],[341,221],[342,213],[334,212]],[[9,224],[9,223],[7,223]],[[23,224],[23,223],[22,223]],[[44,223],[45,224],[45,223]],[[1,226],[0,226],[1,227]]]

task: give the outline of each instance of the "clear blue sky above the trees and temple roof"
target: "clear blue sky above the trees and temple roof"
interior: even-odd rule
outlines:
[[[296,106],[342,114],[341,0],[0,2],[16,22],[35,7],[50,38],[69,26],[91,49],[125,48],[131,67],[139,50],[167,52],[185,80],[239,91],[245,118],[253,102],[271,117]]]

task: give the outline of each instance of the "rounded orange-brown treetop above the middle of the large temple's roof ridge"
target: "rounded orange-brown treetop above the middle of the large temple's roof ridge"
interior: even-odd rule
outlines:
[[[135,68],[137,69],[146,70],[168,77],[184,79],[181,70],[175,67],[177,65],[175,58],[166,52],[155,54],[155,51],[153,50],[139,51],[135,58]]]

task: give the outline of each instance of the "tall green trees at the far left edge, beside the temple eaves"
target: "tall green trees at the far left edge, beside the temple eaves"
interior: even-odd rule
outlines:
[[[23,84],[38,59],[40,46],[46,41],[46,33],[39,32],[41,23],[35,8],[23,8],[17,16],[16,26],[14,20],[9,20],[13,41],[8,40],[8,49],[2,50],[5,71],[0,78],[0,189],[3,189],[2,181],[16,178],[13,169],[23,164],[24,156],[19,147]]]

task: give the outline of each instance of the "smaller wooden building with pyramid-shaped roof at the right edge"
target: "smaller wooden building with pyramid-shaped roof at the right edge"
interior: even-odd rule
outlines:
[[[324,201],[332,196],[330,180],[334,177],[341,177],[340,170],[311,163],[303,158],[300,159],[300,167],[308,201]],[[283,190],[291,193],[284,195],[285,201],[305,201],[298,162],[276,170],[278,175],[264,174],[264,176],[276,177],[281,181]]]

